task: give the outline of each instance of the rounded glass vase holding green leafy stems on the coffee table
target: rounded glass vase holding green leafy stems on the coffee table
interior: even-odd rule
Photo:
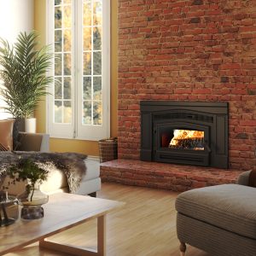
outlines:
[[[26,185],[26,191],[17,196],[20,205],[22,206],[20,218],[23,219],[38,219],[44,217],[44,208],[42,205],[49,200],[49,195],[46,195],[39,189],[39,186],[32,187]]]

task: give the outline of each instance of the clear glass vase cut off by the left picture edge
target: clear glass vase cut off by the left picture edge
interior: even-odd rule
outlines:
[[[5,194],[5,193],[4,193]],[[6,196],[0,200],[0,227],[14,224],[19,218],[19,204],[15,196]]]

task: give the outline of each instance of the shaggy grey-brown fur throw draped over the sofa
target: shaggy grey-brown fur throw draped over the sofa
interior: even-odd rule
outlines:
[[[19,158],[29,158],[35,161],[41,168],[51,171],[54,166],[67,176],[70,193],[75,193],[79,188],[82,177],[86,173],[84,154],[77,153],[42,153],[42,152],[0,152],[0,187],[6,177],[6,171],[10,165],[15,165]],[[0,189],[1,190],[1,189]]]

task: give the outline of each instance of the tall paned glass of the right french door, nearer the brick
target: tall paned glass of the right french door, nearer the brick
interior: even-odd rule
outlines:
[[[83,2],[83,125],[102,125],[102,0]]]

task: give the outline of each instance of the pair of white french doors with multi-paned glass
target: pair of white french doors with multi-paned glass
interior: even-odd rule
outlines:
[[[109,137],[109,0],[49,0],[48,17],[48,41],[55,56],[49,134]]]

